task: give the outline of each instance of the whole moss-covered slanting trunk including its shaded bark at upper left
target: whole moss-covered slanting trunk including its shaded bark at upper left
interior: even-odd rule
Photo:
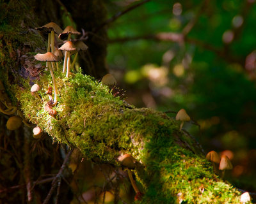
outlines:
[[[31,11],[28,5],[18,4],[23,13]],[[13,1],[3,5],[17,6]],[[58,115],[49,115],[44,107],[49,101],[45,92],[52,86],[51,75],[44,71],[45,64],[33,59],[34,52],[44,50],[46,43],[31,28],[32,19],[19,15],[20,26],[14,27],[6,19],[0,27],[0,79],[13,105],[19,106],[29,122],[95,162],[120,166],[117,157],[131,154],[143,193],[138,203],[239,203],[241,193],[213,173],[198,144],[179,130],[175,120],[155,110],[127,105],[88,75],[65,78],[61,71],[54,72],[59,96],[53,109]],[[42,99],[31,95],[35,82],[42,87]]]

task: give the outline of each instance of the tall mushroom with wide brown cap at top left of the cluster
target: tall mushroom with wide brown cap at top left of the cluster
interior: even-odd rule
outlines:
[[[52,53],[54,52],[54,33],[60,34],[62,33],[62,29],[59,25],[55,24],[54,22],[51,22],[49,24],[43,25],[42,27],[36,27],[36,30],[39,31],[47,31],[48,33],[48,47],[47,52],[50,52],[50,45]]]

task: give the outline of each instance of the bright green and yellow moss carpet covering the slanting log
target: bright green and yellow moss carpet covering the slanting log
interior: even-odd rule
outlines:
[[[132,154],[145,195],[141,203],[174,203],[179,194],[188,203],[237,203],[239,193],[214,175],[194,140],[179,131],[177,122],[148,108],[127,107],[92,77],[77,73],[65,78],[56,71],[59,101],[56,119],[44,110],[52,86],[46,71],[37,84],[40,99],[20,91],[26,119],[59,142],[77,147],[88,159],[118,165],[121,153]]]

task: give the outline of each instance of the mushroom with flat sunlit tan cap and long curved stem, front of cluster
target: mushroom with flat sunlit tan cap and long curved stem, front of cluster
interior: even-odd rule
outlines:
[[[56,57],[51,52],[47,52],[45,54],[36,54],[35,59],[37,59],[38,61],[44,61],[44,62],[45,61],[46,62],[57,62],[57,61],[59,61],[58,57]],[[51,63],[49,63],[49,69],[50,69],[50,73],[51,73],[51,76],[52,76],[52,83],[54,85],[54,105],[56,105],[57,104],[58,89],[57,89],[57,84],[56,84],[56,81],[55,81],[54,73],[52,71]]]

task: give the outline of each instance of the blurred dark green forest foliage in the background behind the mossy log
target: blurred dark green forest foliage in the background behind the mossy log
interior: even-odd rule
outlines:
[[[108,1],[109,17],[136,3]],[[127,101],[161,111],[185,108],[201,126],[185,129],[206,151],[229,150],[228,179],[248,191],[256,191],[255,19],[253,0],[161,0],[108,27],[110,72]],[[189,24],[184,43],[150,36],[182,33]]]

